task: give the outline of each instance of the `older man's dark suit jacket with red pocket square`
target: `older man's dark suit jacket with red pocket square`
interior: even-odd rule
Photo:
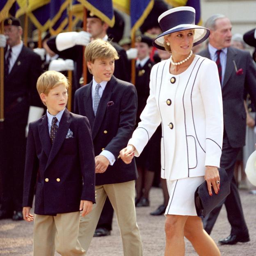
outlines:
[[[208,48],[199,55],[210,59]],[[235,69],[240,70],[240,72]],[[256,104],[256,69],[248,51],[228,48],[222,85],[224,129],[232,148],[245,145],[246,112],[244,91]]]

